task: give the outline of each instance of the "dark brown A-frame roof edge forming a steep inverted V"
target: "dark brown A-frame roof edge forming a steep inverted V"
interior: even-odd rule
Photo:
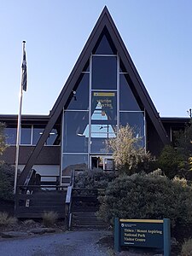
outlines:
[[[84,45],[84,49],[82,50],[81,54],[79,55],[79,59],[76,62],[75,66],[73,67],[73,71],[70,74],[69,78],[63,89],[61,90],[60,96],[57,98],[54,107],[49,113],[49,122],[44,130],[43,135],[38,141],[36,148],[33,150],[31,157],[29,158],[23,172],[20,175],[19,183],[23,183],[26,179],[27,172],[32,168],[35,163],[35,160],[38,157],[40,150],[44,147],[44,143],[49,136],[49,132],[55,125],[56,120],[61,115],[61,111],[63,106],[67,102],[68,97],[70,96],[74,84],[79,79],[80,73],[82,73],[83,68],[86,64],[86,61],[89,59],[92,50],[94,49],[96,42],[100,35],[102,34],[103,29],[107,29],[110,37],[113,40],[113,44],[117,51],[119,52],[119,56],[123,65],[125,66],[127,73],[131,78],[132,84],[135,86],[135,90],[139,95],[143,107],[146,109],[148,113],[148,117],[151,119],[157,133],[160,136],[162,143],[169,143],[169,139],[166,136],[166,131],[160,121],[160,116],[157,113],[153,102],[148,96],[148,91],[145,89],[142,79],[140,78],[139,74],[137,73],[137,69],[131,61],[131,56],[129,55],[125,44],[122,38],[119,35],[119,32],[113,22],[111,15],[108,12],[107,7],[102,10],[102,14],[100,15],[99,19],[96,22],[96,26],[94,27],[93,31],[90,33],[90,38],[88,39],[87,43]]]

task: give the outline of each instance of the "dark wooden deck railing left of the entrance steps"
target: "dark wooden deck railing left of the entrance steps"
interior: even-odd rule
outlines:
[[[44,211],[62,211],[64,218],[66,193],[67,187],[60,185],[58,175],[41,176],[31,170],[25,183],[17,186],[15,215],[18,218],[41,218]]]

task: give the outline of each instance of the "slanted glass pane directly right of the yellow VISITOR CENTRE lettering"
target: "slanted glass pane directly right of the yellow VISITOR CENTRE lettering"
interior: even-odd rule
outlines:
[[[120,74],[120,110],[141,110],[125,74]]]

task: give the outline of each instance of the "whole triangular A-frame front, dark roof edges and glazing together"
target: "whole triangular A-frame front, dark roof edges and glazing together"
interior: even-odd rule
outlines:
[[[87,167],[93,167],[96,158],[110,158],[103,144],[127,123],[136,127],[136,136],[143,137],[143,146],[154,154],[154,145],[169,143],[159,113],[106,7],[49,113],[49,122],[19,184],[25,182],[58,120],[62,130],[61,172],[66,162],[73,165],[73,159],[82,158]]]

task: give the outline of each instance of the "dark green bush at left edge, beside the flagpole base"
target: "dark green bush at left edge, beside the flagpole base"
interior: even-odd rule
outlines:
[[[15,168],[0,163],[0,200],[14,201]]]

